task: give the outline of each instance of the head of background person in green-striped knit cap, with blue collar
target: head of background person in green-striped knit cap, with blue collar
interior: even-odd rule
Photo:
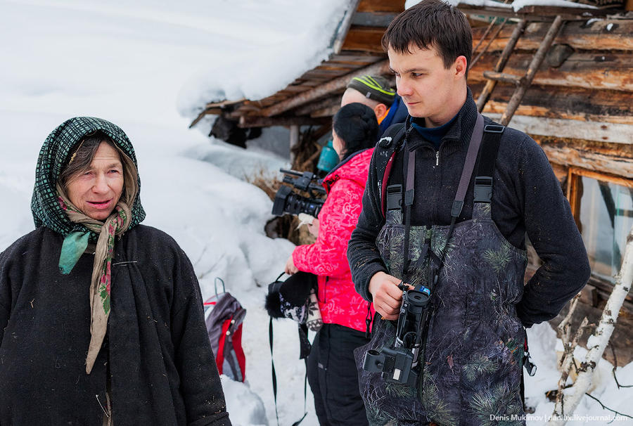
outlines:
[[[378,139],[392,124],[404,123],[409,115],[407,105],[404,105],[402,98],[384,77],[362,75],[350,79],[340,99],[340,106],[354,102],[367,105],[376,114]]]

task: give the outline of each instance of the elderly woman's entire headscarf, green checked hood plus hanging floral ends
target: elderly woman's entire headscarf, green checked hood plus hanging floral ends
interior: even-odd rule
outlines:
[[[72,205],[59,182],[63,169],[72,161],[70,153],[75,150],[75,146],[96,131],[112,139],[123,154],[124,192],[105,221],[92,219]],[[114,257],[115,238],[145,218],[139,199],[140,188],[132,143],[119,127],[106,120],[71,118],[53,130],[41,147],[31,209],[36,227],[46,226],[64,237],[60,247],[60,272],[70,273],[86,250],[89,240],[96,242],[89,290],[91,339],[86,373],[91,372],[108,329],[110,288],[113,284],[110,266]]]

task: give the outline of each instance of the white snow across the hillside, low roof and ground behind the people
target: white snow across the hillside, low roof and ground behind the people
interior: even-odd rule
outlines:
[[[324,54],[340,4],[0,1],[0,57],[5,59],[0,67],[0,250],[32,230],[34,165],[46,135],[75,115],[119,124],[139,158],[145,223],[167,231],[184,248],[205,297],[220,276],[248,310],[243,336],[247,382],[223,377],[234,425],[276,424],[262,305],[267,283],[283,269],[293,246],[264,235],[271,202],[243,177],[287,164],[274,155],[210,143],[200,131],[187,129],[190,120],[177,108],[191,114],[192,105],[212,100],[208,97],[214,93],[235,98],[284,86]],[[272,57],[285,52],[283,67],[265,63],[265,51]],[[207,98],[198,99],[199,93]],[[177,220],[172,205],[181,209]],[[542,425],[539,416],[553,408],[544,392],[554,389],[558,377],[557,343],[546,325],[529,335],[539,371],[527,382],[528,404],[536,408],[528,424]],[[303,414],[305,373],[291,321],[275,323],[274,358],[280,424],[288,425]],[[610,368],[606,361],[600,364],[592,394],[610,408],[633,414],[627,404],[632,389],[615,389]],[[618,378],[633,384],[633,364],[619,368]],[[316,425],[311,398],[308,394],[309,414],[302,425]],[[610,413],[584,399],[577,414]]]

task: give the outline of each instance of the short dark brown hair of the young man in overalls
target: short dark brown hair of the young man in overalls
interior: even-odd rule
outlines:
[[[435,47],[444,67],[450,67],[458,56],[471,64],[473,31],[466,15],[442,0],[422,0],[397,15],[383,34],[383,49],[411,53],[413,43],[419,49]]]

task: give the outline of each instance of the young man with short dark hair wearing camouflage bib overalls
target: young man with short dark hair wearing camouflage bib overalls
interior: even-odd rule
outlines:
[[[478,115],[461,12],[422,1],[392,21],[383,47],[411,118],[373,153],[347,251],[377,313],[356,353],[369,422],[523,424],[524,327],[554,318],[587,282],[582,238],[537,143]],[[526,233],[543,264],[524,287]],[[430,302],[396,328],[403,289]],[[372,364],[370,349],[385,359]]]

